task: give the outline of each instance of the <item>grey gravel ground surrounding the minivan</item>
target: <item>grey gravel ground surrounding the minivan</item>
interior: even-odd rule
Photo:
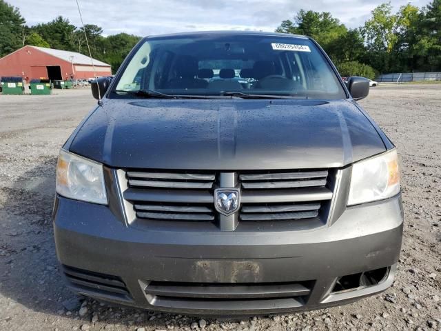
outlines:
[[[441,330],[441,85],[380,86],[360,101],[401,157],[406,221],[393,287],[243,321],[112,308],[63,287],[50,221],[55,163],[94,103],[89,90],[0,95],[0,330]]]

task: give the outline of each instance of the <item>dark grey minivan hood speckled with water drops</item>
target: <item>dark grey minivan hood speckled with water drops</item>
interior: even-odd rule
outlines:
[[[70,151],[116,168],[342,167],[385,150],[349,101],[105,99]]]

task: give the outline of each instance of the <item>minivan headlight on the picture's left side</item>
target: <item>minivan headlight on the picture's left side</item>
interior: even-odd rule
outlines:
[[[66,198],[107,204],[103,165],[61,150],[56,190]]]

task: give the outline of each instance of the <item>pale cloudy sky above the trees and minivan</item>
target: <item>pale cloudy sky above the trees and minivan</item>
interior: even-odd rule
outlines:
[[[75,0],[6,0],[19,8],[32,26],[61,15],[81,26]],[[349,28],[369,19],[371,10],[387,0],[79,0],[85,24],[103,28],[104,35],[126,32],[140,36],[198,30],[274,31],[298,10],[331,12]],[[410,2],[426,6],[429,0],[391,0],[394,10]]]

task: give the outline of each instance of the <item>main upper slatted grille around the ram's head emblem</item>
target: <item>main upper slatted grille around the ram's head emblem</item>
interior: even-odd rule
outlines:
[[[320,226],[327,221],[336,176],[334,170],[128,170],[123,197],[134,211],[134,219],[160,221],[161,224],[165,224],[164,221],[214,223],[222,228],[214,208],[214,190],[222,188],[222,178],[228,176],[234,179],[229,183],[234,182],[240,190],[239,222],[287,225],[287,222],[315,219],[314,226]]]

